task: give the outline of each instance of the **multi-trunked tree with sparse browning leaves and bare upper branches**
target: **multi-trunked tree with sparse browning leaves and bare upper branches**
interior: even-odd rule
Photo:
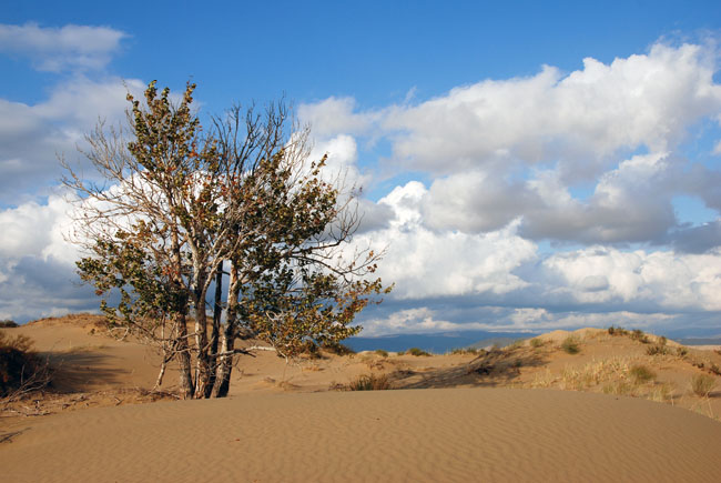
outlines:
[[[337,344],[389,289],[370,276],[375,252],[348,255],[358,193],[324,179],[325,158],[308,160],[308,129],[278,103],[262,114],[234,107],[203,134],[194,89],[176,105],[154,81],[145,104],[129,94],[129,128],[100,123],[87,138],[104,183],[63,162],[64,182],[78,194],[73,239],[88,252],[79,273],[103,298],[111,330],[161,351],[158,384],[177,361],[183,398],[217,398],[234,355]],[[270,345],[235,346],[251,338]]]

